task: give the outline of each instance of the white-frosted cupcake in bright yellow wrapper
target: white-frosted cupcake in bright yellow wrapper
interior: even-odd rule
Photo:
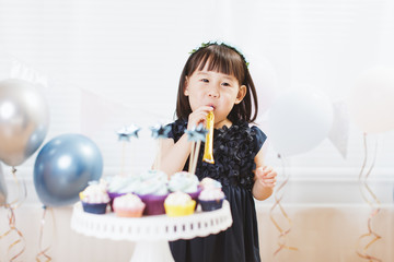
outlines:
[[[165,214],[172,217],[192,215],[195,206],[196,201],[181,191],[170,193],[164,201]]]

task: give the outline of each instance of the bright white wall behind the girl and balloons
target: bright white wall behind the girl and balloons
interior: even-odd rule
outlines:
[[[120,170],[115,131],[131,122],[144,128],[127,148],[127,170],[137,172],[151,166],[155,153],[147,128],[173,119],[178,76],[200,43],[218,39],[241,49],[259,94],[310,85],[345,102],[363,70],[393,67],[393,17],[389,0],[0,0],[0,80],[46,84],[45,142],[67,132],[90,135],[103,153],[104,175]],[[358,188],[362,133],[352,122],[348,136],[347,158],[326,139],[288,159],[285,203],[366,204]],[[369,180],[392,204],[394,132],[369,135],[369,143],[374,140],[379,151]],[[18,167],[27,183],[26,206],[39,206],[32,183],[36,154]],[[282,176],[271,148],[267,163]],[[5,179],[15,198],[12,177]]]

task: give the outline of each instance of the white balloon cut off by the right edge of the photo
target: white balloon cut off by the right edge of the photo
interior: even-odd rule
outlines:
[[[350,119],[367,133],[394,129],[394,68],[366,71],[348,97]]]

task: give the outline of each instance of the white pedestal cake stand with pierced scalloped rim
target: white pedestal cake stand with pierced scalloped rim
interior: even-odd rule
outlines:
[[[169,240],[192,239],[218,234],[232,225],[230,204],[223,202],[220,210],[193,215],[169,217],[166,215],[138,218],[117,217],[114,213],[95,215],[85,213],[80,202],[74,204],[71,228],[85,236],[102,239],[136,241],[130,262],[173,262]]]

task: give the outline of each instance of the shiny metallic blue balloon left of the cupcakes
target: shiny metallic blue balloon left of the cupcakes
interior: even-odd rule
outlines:
[[[96,144],[81,134],[62,134],[46,143],[34,165],[34,186],[47,206],[78,201],[91,180],[99,180],[103,157]]]

